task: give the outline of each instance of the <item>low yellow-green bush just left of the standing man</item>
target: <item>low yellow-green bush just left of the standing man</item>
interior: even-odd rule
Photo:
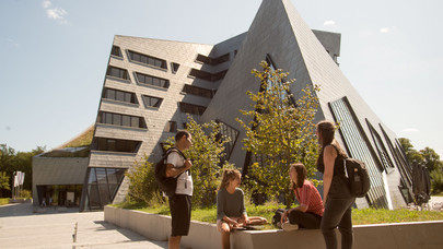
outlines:
[[[158,191],[154,165],[148,162],[147,156],[141,162],[136,162],[125,175],[130,181],[128,193],[130,200],[145,204],[163,200]]]

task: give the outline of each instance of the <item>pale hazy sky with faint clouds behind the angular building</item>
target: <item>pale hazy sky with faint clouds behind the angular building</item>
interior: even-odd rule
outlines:
[[[341,33],[340,69],[417,150],[443,156],[441,0],[291,0],[313,29]],[[2,0],[0,143],[25,152],[94,123],[114,35],[217,44],[260,0]]]

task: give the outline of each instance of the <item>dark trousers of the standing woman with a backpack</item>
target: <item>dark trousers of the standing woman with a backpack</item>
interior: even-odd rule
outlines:
[[[328,198],[323,214],[320,229],[327,249],[337,248],[337,236],[335,228],[341,233],[341,248],[350,249],[353,242],[352,232],[352,204],[355,198]]]

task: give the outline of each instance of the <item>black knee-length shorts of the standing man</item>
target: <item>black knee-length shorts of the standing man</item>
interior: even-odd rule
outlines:
[[[170,209],[172,217],[171,236],[187,236],[190,225],[191,198],[186,194],[175,194],[170,198]]]

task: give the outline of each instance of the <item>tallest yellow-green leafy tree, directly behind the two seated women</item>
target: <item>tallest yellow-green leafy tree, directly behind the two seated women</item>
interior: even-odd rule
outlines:
[[[314,118],[318,108],[315,92],[319,87],[306,86],[294,103],[289,90],[295,80],[285,81],[288,73],[272,70],[265,61],[260,66],[263,71],[254,69],[252,73],[260,80],[261,91],[247,92],[253,110],[241,110],[250,121],[237,119],[246,131],[245,149],[260,161],[248,167],[247,179],[259,193],[276,197],[283,192],[289,206],[292,202],[290,164],[303,163],[308,178],[316,171],[318,147]]]

